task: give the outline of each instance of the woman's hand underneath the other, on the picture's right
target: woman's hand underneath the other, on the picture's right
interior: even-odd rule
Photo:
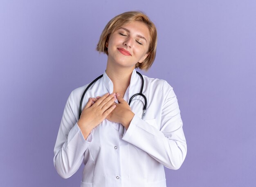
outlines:
[[[116,108],[110,114],[108,114],[106,119],[115,123],[121,123],[126,129],[128,129],[135,114],[132,112],[129,104],[121,97],[119,93],[116,94],[116,97],[119,103],[114,103]],[[99,98],[100,97],[96,97],[96,99]]]

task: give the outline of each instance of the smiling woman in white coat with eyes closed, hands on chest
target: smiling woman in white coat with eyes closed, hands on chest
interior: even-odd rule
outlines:
[[[108,55],[103,77],[67,99],[54,147],[60,176],[83,163],[81,187],[166,187],[164,166],[180,168],[186,140],[173,88],[135,70],[150,68],[156,45],[155,25],[142,12],[108,22],[97,45]]]

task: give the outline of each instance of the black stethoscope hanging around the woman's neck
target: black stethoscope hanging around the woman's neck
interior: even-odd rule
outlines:
[[[143,119],[143,118],[144,118],[144,115],[145,115],[145,113],[146,113],[146,108],[147,108],[147,98],[146,98],[146,96],[142,93],[142,90],[143,90],[143,87],[144,87],[144,79],[143,79],[142,75],[141,75],[139,72],[136,71],[136,73],[140,76],[141,81],[142,81],[142,83],[141,83],[141,88],[140,88],[140,92],[137,93],[137,94],[135,94],[135,95],[132,95],[132,97],[130,98],[128,104],[130,105],[130,103],[132,102],[132,99],[133,99],[134,97],[136,97],[137,95],[141,95],[141,96],[144,98],[144,101],[145,101],[145,102],[144,102],[144,107],[143,107],[143,114],[142,114],[142,116],[141,116],[141,119]],[[99,77],[97,77],[96,79],[94,79],[94,81],[92,81],[92,82],[87,86],[87,88],[84,90],[83,95],[82,95],[82,97],[81,97],[81,101],[80,101],[79,119],[80,119],[80,116],[81,116],[81,113],[82,113],[82,103],[83,103],[83,97],[85,96],[85,93],[86,93],[87,90],[88,90],[97,80],[99,80],[101,77],[103,77],[103,75],[100,75]],[[122,132],[123,132],[123,134],[124,134],[124,126],[123,126],[123,129],[122,129]]]

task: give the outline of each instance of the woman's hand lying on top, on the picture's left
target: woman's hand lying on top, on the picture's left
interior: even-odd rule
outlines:
[[[99,125],[115,109],[115,105],[112,105],[115,100],[115,93],[106,93],[97,99],[94,104],[92,104],[92,98],[89,99],[77,122],[85,139],[87,139],[92,129]]]

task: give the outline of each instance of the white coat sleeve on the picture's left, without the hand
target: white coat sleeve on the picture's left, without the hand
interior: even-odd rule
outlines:
[[[63,178],[69,178],[83,162],[90,142],[85,141],[74,115],[73,92],[67,99],[54,147],[54,167]],[[89,136],[88,139],[91,137]]]

